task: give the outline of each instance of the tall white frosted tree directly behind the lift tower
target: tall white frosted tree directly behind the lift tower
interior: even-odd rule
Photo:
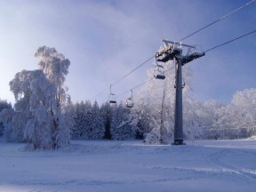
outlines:
[[[154,69],[149,68],[148,83],[134,97],[133,115],[137,117],[139,127],[145,131],[148,143],[170,143],[174,126],[175,68],[171,61],[164,63],[165,79],[152,79]],[[191,89],[192,72],[183,67],[183,80],[186,85],[183,95]],[[141,128],[140,128],[141,129]]]

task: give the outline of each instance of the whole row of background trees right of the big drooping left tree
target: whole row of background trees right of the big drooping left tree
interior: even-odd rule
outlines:
[[[85,132],[83,134],[79,131],[81,136],[73,132],[73,137],[88,140],[137,138],[144,139],[148,143],[170,143],[174,131],[175,82],[173,79],[175,71],[168,70],[168,68],[172,68],[172,63],[167,63],[165,66],[167,72],[164,81],[156,79],[149,81],[140,92],[136,93],[133,98],[135,105],[132,109],[125,108],[122,103],[118,106],[109,106],[108,103],[105,103],[96,110],[98,113],[95,115],[95,112],[91,113],[95,109],[92,109],[89,100],[85,103],[77,103],[74,107],[76,109],[73,110],[75,113],[73,113],[77,116],[77,111],[79,111],[77,108],[80,108],[80,111],[85,112],[83,118],[86,119],[85,121],[81,120],[84,125],[81,125],[78,130],[89,132],[88,130],[97,129],[96,127],[90,129],[91,125],[88,124],[91,124],[92,119],[96,119],[95,116],[98,116],[99,121],[104,124],[98,128],[103,130],[104,134],[94,135]],[[186,83],[183,89],[183,125],[186,139],[237,139],[255,135],[256,89],[236,92],[227,105],[216,100],[202,102],[189,97],[192,79],[191,69],[184,67],[183,73],[185,76],[184,83]],[[153,76],[153,70],[149,69],[148,79],[151,76]],[[93,106],[99,108],[97,102]],[[79,113],[81,116],[81,112]],[[75,126],[77,127],[76,121],[75,117]]]

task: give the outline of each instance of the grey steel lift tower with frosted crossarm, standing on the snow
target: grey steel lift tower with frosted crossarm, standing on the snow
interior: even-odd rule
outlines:
[[[183,112],[182,112],[182,66],[188,62],[200,58],[205,55],[205,52],[190,52],[187,55],[182,55],[182,46],[188,49],[196,49],[194,45],[181,44],[180,42],[172,42],[163,40],[166,48],[161,52],[156,52],[156,60],[159,62],[167,62],[174,60],[176,69],[176,96],[175,96],[175,124],[174,124],[174,140],[172,145],[184,145],[183,142]]]

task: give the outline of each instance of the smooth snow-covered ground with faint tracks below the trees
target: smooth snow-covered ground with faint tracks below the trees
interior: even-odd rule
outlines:
[[[31,152],[0,139],[0,191],[255,191],[256,140],[186,142],[72,140]]]

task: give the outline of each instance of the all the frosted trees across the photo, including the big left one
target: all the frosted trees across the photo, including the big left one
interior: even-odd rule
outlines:
[[[170,144],[173,139],[175,73],[172,62],[164,66],[164,80],[153,79],[133,97],[133,108],[125,100],[72,103],[65,79],[70,61],[55,48],[39,47],[35,70],[22,70],[10,82],[15,97],[12,107],[0,100],[0,136],[29,148],[63,148],[70,140],[143,140]],[[183,126],[185,140],[241,139],[255,135],[256,89],[233,95],[228,104],[191,97],[193,72],[183,69]],[[150,81],[149,81],[150,80]]]

